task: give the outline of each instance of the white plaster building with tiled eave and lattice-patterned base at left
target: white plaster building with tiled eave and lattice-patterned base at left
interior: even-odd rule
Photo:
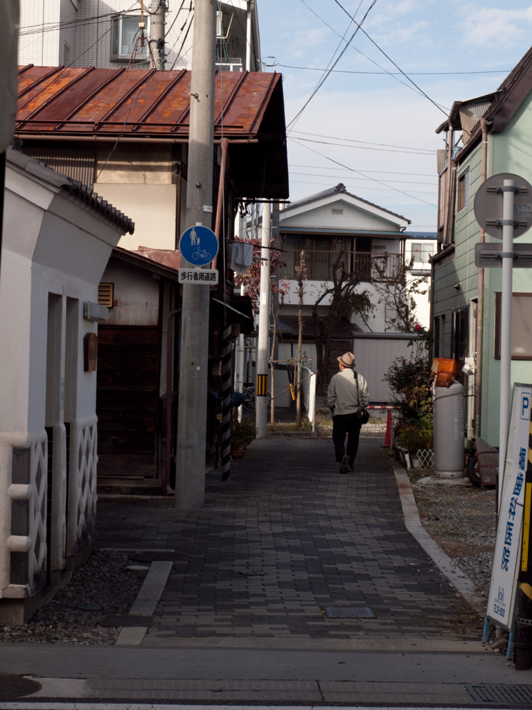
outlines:
[[[98,284],[133,223],[12,148],[0,273],[0,622],[87,559],[96,514]]]

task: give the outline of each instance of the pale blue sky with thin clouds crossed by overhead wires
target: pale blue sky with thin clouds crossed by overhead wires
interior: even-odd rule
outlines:
[[[343,182],[410,219],[409,231],[436,231],[436,129],[530,48],[530,0],[257,0],[257,10],[265,70],[283,75],[289,199]]]

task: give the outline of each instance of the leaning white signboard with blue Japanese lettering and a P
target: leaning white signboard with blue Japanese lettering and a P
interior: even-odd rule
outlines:
[[[514,384],[504,476],[499,484],[499,522],[486,616],[511,631],[521,555],[532,385]],[[500,480],[500,479],[499,479]]]

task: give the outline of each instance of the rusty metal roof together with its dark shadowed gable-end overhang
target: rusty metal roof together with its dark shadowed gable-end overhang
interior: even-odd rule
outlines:
[[[18,71],[15,134],[28,147],[54,141],[187,143],[187,70],[35,67]],[[233,190],[240,197],[286,200],[288,159],[282,76],[216,72],[214,141],[226,138]]]

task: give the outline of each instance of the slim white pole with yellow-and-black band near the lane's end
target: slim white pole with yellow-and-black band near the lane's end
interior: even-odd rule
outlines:
[[[257,338],[257,382],[255,385],[255,414],[257,438],[268,435],[268,331],[270,329],[270,202],[262,209],[262,249],[260,251],[260,311]],[[272,393],[273,394],[273,393]]]

